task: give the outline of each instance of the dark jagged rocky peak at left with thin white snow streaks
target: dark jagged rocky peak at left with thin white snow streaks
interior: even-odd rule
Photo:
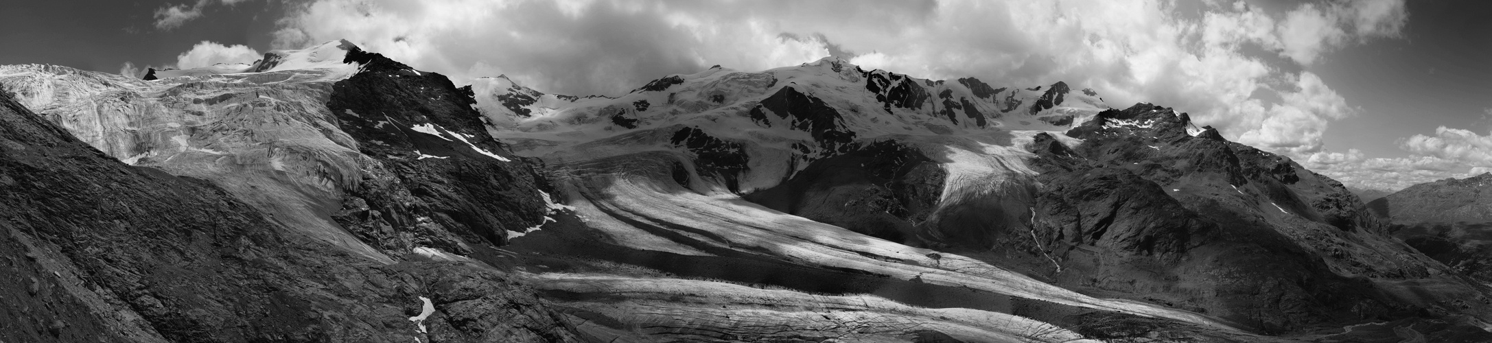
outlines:
[[[385,249],[431,240],[427,245],[466,254],[461,240],[504,245],[504,231],[543,219],[539,189],[548,185],[485,134],[467,91],[379,54],[349,51],[346,60],[363,63],[363,72],[337,82],[327,107],[380,169],[364,173],[352,191],[363,204],[345,203],[339,212],[343,227]],[[409,231],[424,234],[400,234]]]

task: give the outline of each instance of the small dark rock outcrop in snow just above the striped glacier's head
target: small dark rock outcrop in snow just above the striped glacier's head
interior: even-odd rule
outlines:
[[[746,172],[746,148],[740,143],[721,140],[700,128],[679,128],[668,140],[674,146],[689,149],[695,155],[695,172],[721,177],[731,191],[740,191],[740,173]],[[685,180],[688,174],[683,176]],[[677,176],[676,176],[677,180]],[[679,182],[686,185],[688,182]]]

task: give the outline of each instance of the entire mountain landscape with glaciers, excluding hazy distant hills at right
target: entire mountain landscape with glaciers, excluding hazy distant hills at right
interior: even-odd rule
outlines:
[[[330,42],[0,85],[4,342],[1488,339],[1340,183],[1061,82],[573,97]]]

